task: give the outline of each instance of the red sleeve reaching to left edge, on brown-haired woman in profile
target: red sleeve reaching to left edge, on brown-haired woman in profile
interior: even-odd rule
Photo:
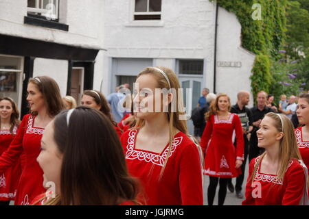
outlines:
[[[16,136],[12,140],[10,146],[0,157],[0,173],[3,173],[12,164],[14,164],[17,159],[19,159],[21,153],[23,152],[23,135],[27,129],[27,122],[30,115],[23,116],[21,125],[17,130]]]

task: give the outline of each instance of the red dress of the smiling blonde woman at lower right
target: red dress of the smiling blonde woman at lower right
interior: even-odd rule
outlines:
[[[250,178],[258,159],[260,156],[250,162],[246,197],[242,205],[299,205],[306,188],[306,176],[298,160],[290,161],[283,181],[276,175],[260,172],[259,166],[252,185]]]

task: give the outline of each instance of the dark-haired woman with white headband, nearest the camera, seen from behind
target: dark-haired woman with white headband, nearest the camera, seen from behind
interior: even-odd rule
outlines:
[[[45,128],[41,145],[37,161],[44,185],[54,186],[33,205],[136,203],[137,183],[128,175],[122,145],[102,112],[84,106],[61,112]]]

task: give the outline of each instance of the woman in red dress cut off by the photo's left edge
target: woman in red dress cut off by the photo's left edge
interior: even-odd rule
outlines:
[[[8,149],[19,127],[19,111],[10,97],[0,99],[0,155]],[[18,160],[0,176],[0,205],[14,201],[16,187],[21,177],[21,162]]]

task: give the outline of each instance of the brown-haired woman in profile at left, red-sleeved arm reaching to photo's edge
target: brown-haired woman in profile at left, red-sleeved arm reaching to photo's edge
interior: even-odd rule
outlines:
[[[15,164],[21,153],[25,157],[15,205],[30,205],[34,197],[45,191],[43,171],[36,157],[41,151],[40,141],[46,125],[64,108],[58,84],[51,77],[30,79],[27,93],[32,113],[23,116],[14,140],[0,157],[0,174]]]

